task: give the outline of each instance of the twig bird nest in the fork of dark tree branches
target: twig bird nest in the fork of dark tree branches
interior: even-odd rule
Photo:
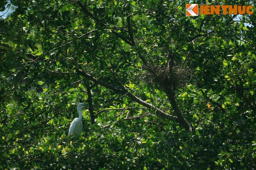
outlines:
[[[143,80],[160,87],[184,88],[191,79],[190,71],[180,66],[174,66],[171,69],[156,66],[146,70]]]

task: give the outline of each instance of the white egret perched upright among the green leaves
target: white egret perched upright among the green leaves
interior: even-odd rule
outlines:
[[[86,105],[84,103],[79,103],[77,105],[77,112],[79,114],[78,118],[74,118],[74,120],[72,121],[72,123],[69,126],[69,131],[68,131],[68,137],[70,135],[80,135],[80,133],[82,132],[82,128],[83,128],[83,124],[82,124],[82,119],[83,119],[83,115],[82,115],[82,109],[85,108]]]

